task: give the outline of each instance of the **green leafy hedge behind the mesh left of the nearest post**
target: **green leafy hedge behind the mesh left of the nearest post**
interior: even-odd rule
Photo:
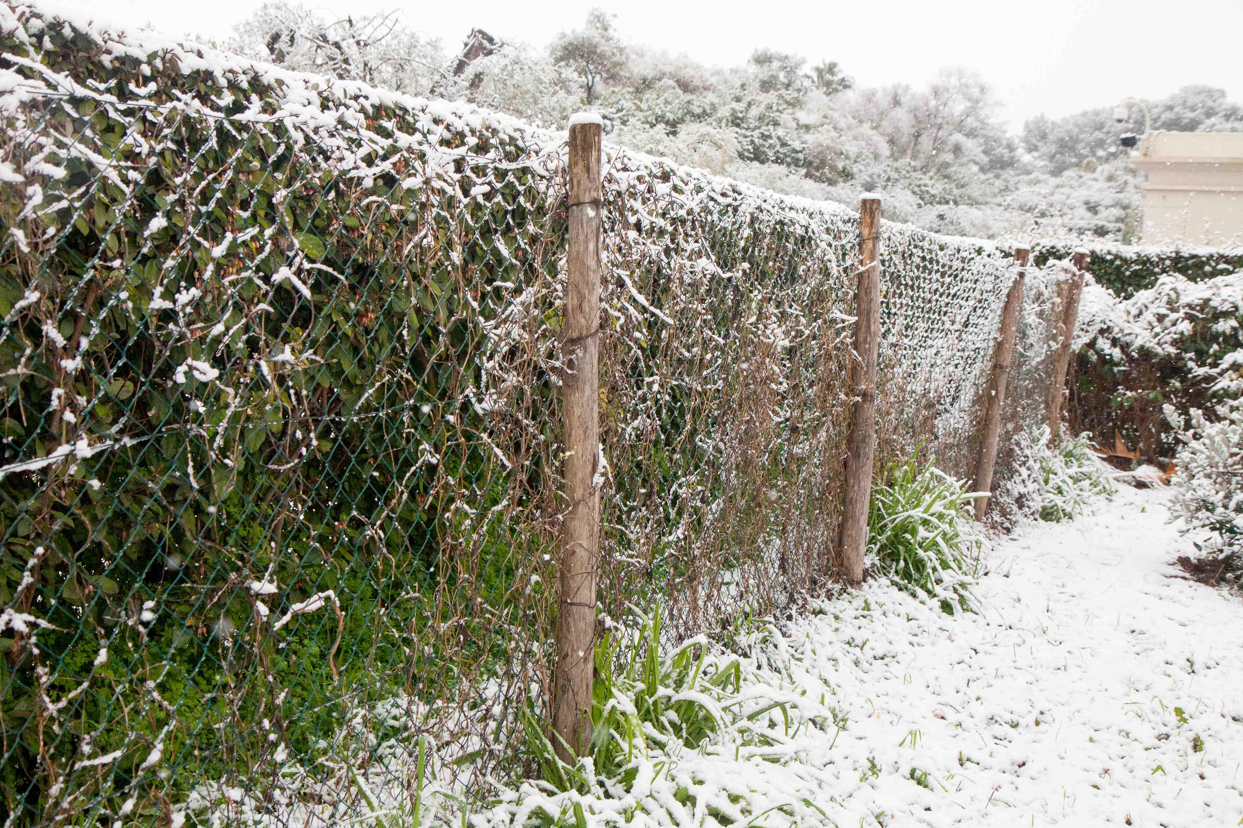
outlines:
[[[531,502],[543,456],[515,444],[549,432],[516,423],[556,386],[527,372],[500,411],[533,358],[496,320],[554,278],[563,221],[516,128],[327,92],[319,127],[272,118],[297,88],[266,70],[41,31],[0,37],[27,82],[150,88],[5,115],[31,178],[0,223],[37,242],[0,243],[0,607],[47,626],[0,622],[0,812],[133,790],[152,821],[148,790],[318,758],[344,700],[456,693],[538,621],[542,536],[497,506]],[[78,772],[87,745],[117,757]]]

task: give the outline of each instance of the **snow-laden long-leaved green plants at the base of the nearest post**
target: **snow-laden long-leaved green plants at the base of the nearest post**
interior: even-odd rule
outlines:
[[[597,646],[588,755],[561,763],[531,722],[528,749],[543,778],[498,785],[470,824],[839,824],[819,775],[787,770],[802,761],[802,745],[832,750],[849,719],[830,706],[832,691],[803,683],[802,638],[767,624],[732,637],[730,650],[699,636],[669,652],[664,623],[639,622]]]

